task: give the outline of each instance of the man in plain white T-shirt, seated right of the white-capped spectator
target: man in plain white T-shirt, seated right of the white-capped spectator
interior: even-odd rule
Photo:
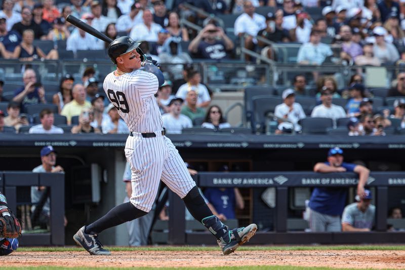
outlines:
[[[332,91],[328,88],[321,90],[320,100],[322,104],[313,108],[311,117],[330,118],[333,120],[335,126],[336,119],[346,117],[346,112],[342,106],[332,104]]]

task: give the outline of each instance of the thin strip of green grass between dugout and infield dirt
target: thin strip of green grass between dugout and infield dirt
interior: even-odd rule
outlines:
[[[218,247],[202,247],[202,246],[156,246],[156,247],[107,247],[110,251],[219,251]],[[358,245],[358,246],[245,246],[238,250],[405,250],[404,245]],[[16,252],[63,252],[63,251],[84,251],[79,247],[20,247]]]

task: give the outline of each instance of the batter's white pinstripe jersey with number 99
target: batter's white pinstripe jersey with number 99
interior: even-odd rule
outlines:
[[[154,94],[159,83],[155,74],[142,69],[115,76],[109,73],[103,88],[130,131],[147,133],[161,130],[163,121]]]

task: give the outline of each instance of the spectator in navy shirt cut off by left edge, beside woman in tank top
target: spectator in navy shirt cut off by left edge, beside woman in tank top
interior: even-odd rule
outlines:
[[[15,48],[21,43],[21,35],[17,31],[7,30],[7,19],[0,16],[0,52],[3,58],[11,58]]]

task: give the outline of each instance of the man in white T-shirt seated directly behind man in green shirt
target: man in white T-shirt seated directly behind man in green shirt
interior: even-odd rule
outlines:
[[[211,103],[210,93],[205,85],[200,84],[201,75],[196,70],[190,70],[187,73],[187,83],[180,86],[176,97],[186,98],[189,91],[195,91],[197,94],[197,107],[208,107]]]

